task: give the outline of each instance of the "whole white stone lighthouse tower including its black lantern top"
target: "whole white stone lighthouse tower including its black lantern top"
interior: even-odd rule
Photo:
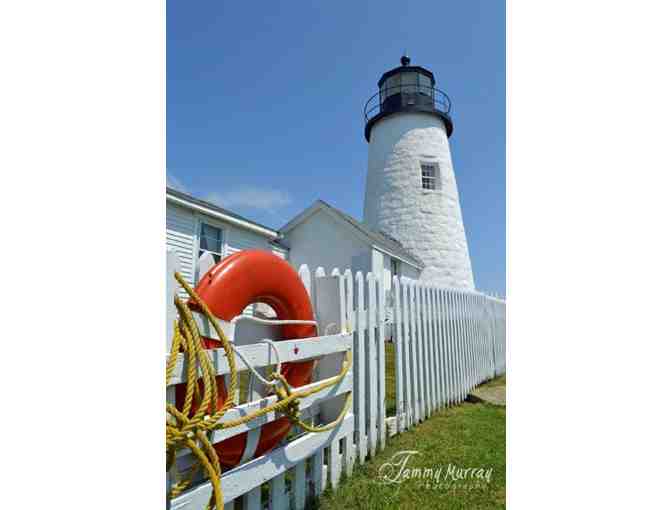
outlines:
[[[420,278],[474,288],[448,139],[450,100],[431,71],[386,72],[365,107],[369,168],[364,223],[399,241],[425,264]]]

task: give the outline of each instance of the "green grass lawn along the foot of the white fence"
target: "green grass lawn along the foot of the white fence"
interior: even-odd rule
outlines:
[[[386,345],[388,416],[395,412],[393,349]],[[502,376],[484,386],[505,384]],[[505,508],[505,459],[505,408],[464,402],[388,439],[382,453],[357,466],[337,491],[327,489],[313,508]]]

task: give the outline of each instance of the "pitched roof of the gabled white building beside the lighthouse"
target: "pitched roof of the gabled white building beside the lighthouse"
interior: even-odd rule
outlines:
[[[289,232],[304,221],[308,220],[308,218],[310,218],[313,214],[321,210],[326,211],[332,217],[348,225],[352,230],[358,232],[359,234],[363,234],[368,239],[370,244],[375,245],[375,247],[382,249],[383,251],[387,251],[393,257],[405,261],[412,266],[416,266],[419,269],[423,269],[425,267],[425,264],[422,262],[422,260],[411,254],[399,241],[393,237],[367,227],[362,222],[357,221],[349,214],[346,214],[343,211],[336,209],[334,206],[329,205],[324,200],[317,200],[315,203],[313,203],[313,205],[290,220],[289,223],[280,229],[280,232]]]

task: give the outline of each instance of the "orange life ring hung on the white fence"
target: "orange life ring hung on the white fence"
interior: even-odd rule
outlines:
[[[280,320],[314,320],[310,296],[299,275],[289,263],[268,251],[243,250],[226,257],[203,275],[194,290],[213,315],[225,321],[231,321],[252,303],[269,305]],[[317,336],[313,325],[285,324],[281,328],[283,339]],[[207,349],[221,347],[219,340],[203,340]],[[282,374],[291,386],[303,386],[311,382],[313,363],[283,363]],[[176,387],[178,407],[184,403],[185,389],[185,384]],[[226,399],[223,376],[217,377],[217,389],[217,406],[221,409]],[[287,418],[280,418],[215,444],[221,466],[228,469],[272,450],[290,427]]]

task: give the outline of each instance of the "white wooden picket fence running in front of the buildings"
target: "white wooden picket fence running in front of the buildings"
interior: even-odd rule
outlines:
[[[175,267],[176,256],[169,252],[167,348],[175,318]],[[350,391],[353,408],[335,429],[303,434],[295,430],[290,441],[272,452],[224,473],[221,486],[227,509],[232,510],[236,501],[246,510],[302,509],[327,486],[336,488],[342,476],[350,476],[355,462],[364,463],[367,457],[382,451],[389,436],[413,427],[442,407],[461,402],[474,386],[505,371],[503,300],[395,277],[389,310],[384,286],[371,273],[353,275],[350,270],[341,273],[334,269],[327,275],[317,268],[311,274],[302,266],[299,274],[311,296],[321,336],[276,342],[281,360],[319,359],[313,380],[320,381],[340,371],[346,351],[352,349],[354,357],[350,372],[340,384],[301,401],[303,417],[316,425],[329,423],[339,414]],[[211,334],[203,318],[198,322],[206,336]],[[255,326],[246,331],[237,329],[234,341],[259,369],[277,362],[269,346],[259,342],[274,335],[277,331],[273,327]],[[386,416],[385,401],[388,340],[394,342],[396,369],[396,416],[390,417]],[[212,351],[212,357],[218,374],[229,373],[223,349]],[[237,365],[243,372],[242,363]],[[174,402],[174,385],[186,380],[181,367],[180,360],[168,388],[169,402]],[[250,390],[256,399],[231,409],[223,421],[276,401],[275,396],[265,397],[254,388]],[[280,417],[266,414],[245,425],[218,431],[213,440],[253,431]],[[167,484],[192,461],[188,452],[181,452]],[[167,508],[205,508],[211,490],[211,485],[203,481],[167,502]]]

